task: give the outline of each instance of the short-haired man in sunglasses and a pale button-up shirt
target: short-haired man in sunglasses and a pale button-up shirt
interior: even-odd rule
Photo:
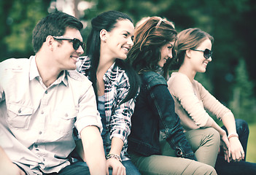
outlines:
[[[36,55],[0,63],[0,174],[106,174],[91,82],[76,69],[82,23],[63,12],[34,28]],[[72,165],[73,128],[88,166]]]

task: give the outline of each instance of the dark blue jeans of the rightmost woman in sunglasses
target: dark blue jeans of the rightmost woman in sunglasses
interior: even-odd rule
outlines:
[[[227,133],[225,126],[222,127]],[[224,152],[221,149],[220,154],[217,156],[215,169],[218,175],[240,175],[240,174],[256,174],[256,163],[249,163],[245,161],[247,155],[247,141],[249,136],[248,124],[241,119],[236,119],[236,132],[238,133],[239,140],[244,149],[244,160],[240,162],[231,161],[228,163],[224,158]]]

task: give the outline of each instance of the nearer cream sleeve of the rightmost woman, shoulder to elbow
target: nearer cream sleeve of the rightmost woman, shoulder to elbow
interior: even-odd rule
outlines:
[[[184,74],[177,74],[168,81],[168,89],[171,95],[177,99],[187,114],[199,127],[209,127],[213,119],[203,108],[201,101],[195,95],[190,79]]]

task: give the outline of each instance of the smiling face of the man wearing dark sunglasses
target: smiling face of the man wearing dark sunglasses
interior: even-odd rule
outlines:
[[[63,34],[63,36],[71,39],[76,38],[82,42],[82,36],[80,32],[75,28],[67,28],[66,33]],[[53,63],[55,63],[55,65],[58,66],[60,70],[76,69],[77,58],[84,52],[84,50],[82,50],[82,47],[79,46],[77,50],[74,50],[73,42],[69,40],[60,41],[58,39],[55,39],[55,45],[57,47],[54,52],[55,59]]]

